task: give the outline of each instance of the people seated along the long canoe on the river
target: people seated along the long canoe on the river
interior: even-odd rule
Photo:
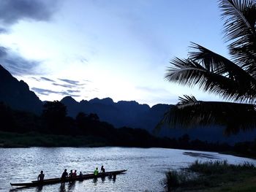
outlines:
[[[104,166],[101,167],[100,172],[105,173]],[[97,176],[98,174],[99,174],[98,167],[96,167],[96,169],[94,170],[94,176]],[[74,172],[73,172],[73,170],[70,170],[70,172],[68,174],[67,169],[64,169],[64,172],[61,174],[61,183],[64,183],[67,178],[69,178],[69,180],[72,180],[72,179],[77,178],[77,176],[78,176],[77,170],[75,170]],[[82,172],[79,173],[79,177],[83,178]],[[37,180],[42,182],[44,180],[44,178],[45,178],[45,174],[43,173],[43,171],[41,171],[37,177]]]

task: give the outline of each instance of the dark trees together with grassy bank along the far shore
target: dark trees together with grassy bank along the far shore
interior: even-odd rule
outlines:
[[[67,116],[59,101],[47,102],[42,115],[12,110],[0,102],[0,147],[166,147],[236,153],[256,157],[256,141],[230,146],[192,140],[187,134],[160,138],[140,128],[115,128],[99,120],[97,114]]]

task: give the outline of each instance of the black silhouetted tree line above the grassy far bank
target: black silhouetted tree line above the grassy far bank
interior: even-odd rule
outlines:
[[[95,113],[79,112],[75,118],[67,116],[67,108],[60,101],[47,101],[41,115],[31,112],[12,110],[0,102],[0,131],[28,134],[31,132],[45,135],[66,135],[72,137],[91,137],[94,142],[108,146],[122,147],[169,147],[187,150],[227,151],[233,146],[209,143],[198,139],[191,140],[189,135],[176,138],[157,137],[145,129],[121,127],[115,128],[99,120]],[[238,151],[248,151],[253,144],[240,143]],[[241,150],[243,148],[243,150]],[[246,149],[246,150],[245,150]]]

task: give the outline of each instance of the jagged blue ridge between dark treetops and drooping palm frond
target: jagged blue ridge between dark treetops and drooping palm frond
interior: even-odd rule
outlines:
[[[64,97],[61,102],[67,106],[68,115],[71,117],[75,117],[78,112],[97,113],[100,120],[107,121],[113,126],[146,128],[148,131],[154,129],[164,112],[171,107],[168,104],[149,107],[147,104],[138,104],[136,101],[115,103],[110,98],[77,102],[70,96]]]

